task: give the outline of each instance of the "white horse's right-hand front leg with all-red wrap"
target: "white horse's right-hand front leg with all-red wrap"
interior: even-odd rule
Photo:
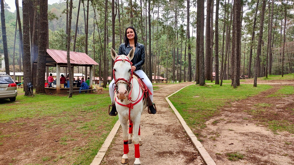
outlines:
[[[139,129],[140,129],[140,121],[141,121],[141,114],[134,119],[133,127],[134,127],[134,135],[133,135],[133,141],[135,145],[135,162],[134,165],[140,165],[140,149],[139,149],[139,141],[141,138],[139,138]]]

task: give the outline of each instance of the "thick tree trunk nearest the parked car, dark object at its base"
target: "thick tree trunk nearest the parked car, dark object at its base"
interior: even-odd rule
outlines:
[[[28,83],[33,83],[31,74],[31,46],[30,46],[30,24],[29,24],[29,0],[22,1],[22,14],[23,14],[23,26],[24,26],[24,54],[23,54],[23,66],[24,66],[24,95],[30,95],[28,90]]]

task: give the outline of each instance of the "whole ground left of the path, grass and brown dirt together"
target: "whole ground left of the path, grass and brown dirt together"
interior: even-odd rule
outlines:
[[[19,89],[15,102],[0,100],[3,164],[91,164],[118,117],[103,94],[34,95]]]

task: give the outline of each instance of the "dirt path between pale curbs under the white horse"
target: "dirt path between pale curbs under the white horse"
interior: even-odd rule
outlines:
[[[140,161],[142,165],[200,165],[204,164],[198,151],[186,136],[182,125],[176,118],[165,97],[191,84],[156,85],[166,87],[154,92],[154,102],[158,113],[149,115],[146,110],[141,117]],[[169,87],[167,87],[169,86]],[[123,155],[122,129],[118,130],[101,164],[121,164]],[[134,158],[134,145],[129,144],[129,164]]]

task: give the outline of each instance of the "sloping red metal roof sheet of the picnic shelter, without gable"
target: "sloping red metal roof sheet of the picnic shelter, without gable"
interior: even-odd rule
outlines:
[[[53,58],[56,63],[67,63],[67,51],[47,49],[47,53]],[[82,65],[98,65],[91,57],[86,53],[81,52],[69,52],[71,64]]]

